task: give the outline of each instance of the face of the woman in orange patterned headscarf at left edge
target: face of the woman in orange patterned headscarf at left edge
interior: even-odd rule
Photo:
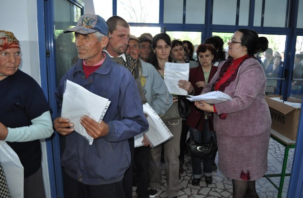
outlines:
[[[19,48],[8,48],[0,51],[0,80],[14,75],[21,63]]]

